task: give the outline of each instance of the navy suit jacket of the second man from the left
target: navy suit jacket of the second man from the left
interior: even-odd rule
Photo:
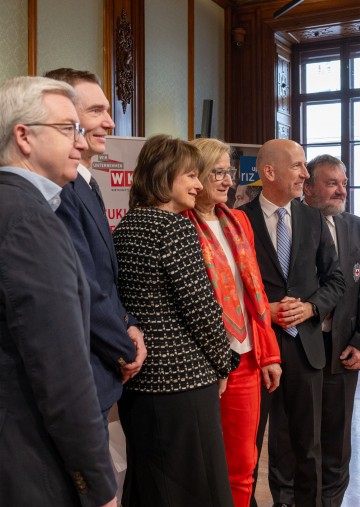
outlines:
[[[122,393],[118,359],[135,359],[127,327],[137,321],[128,316],[118,296],[118,267],[109,224],[80,174],[63,188],[56,214],[70,233],[90,285],[91,365],[100,406],[106,410]]]

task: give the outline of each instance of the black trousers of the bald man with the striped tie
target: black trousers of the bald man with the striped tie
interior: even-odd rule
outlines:
[[[296,507],[321,507],[320,432],[323,372],[310,366],[299,335],[292,338],[280,331],[277,338],[282,358],[282,388],[272,394],[262,390],[257,439],[259,455],[268,415],[276,399],[275,404],[281,403],[287,415],[288,435],[295,455]],[[279,399],[281,400],[278,401]],[[251,506],[254,505],[255,498],[251,501]]]

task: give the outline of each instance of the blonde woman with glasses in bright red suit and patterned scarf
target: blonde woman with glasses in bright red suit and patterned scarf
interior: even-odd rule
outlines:
[[[225,205],[235,177],[230,147],[217,139],[196,139],[193,144],[205,162],[199,175],[204,188],[195,209],[185,214],[197,230],[231,348],[241,354],[240,366],[230,373],[221,395],[221,416],[234,504],[248,507],[257,461],[260,385],[263,381],[269,392],[278,387],[280,352],[250,222],[245,213]]]

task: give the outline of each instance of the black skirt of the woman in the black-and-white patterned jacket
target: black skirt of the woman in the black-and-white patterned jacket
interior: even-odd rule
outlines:
[[[175,394],[125,391],[123,507],[233,507],[217,385]]]

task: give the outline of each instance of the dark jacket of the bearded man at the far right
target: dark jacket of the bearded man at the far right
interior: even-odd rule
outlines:
[[[339,356],[347,345],[360,350],[360,218],[350,213],[334,217],[340,267],[346,289],[332,321],[331,371],[345,370]]]

